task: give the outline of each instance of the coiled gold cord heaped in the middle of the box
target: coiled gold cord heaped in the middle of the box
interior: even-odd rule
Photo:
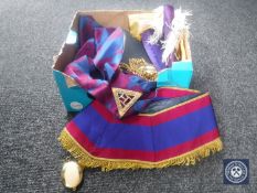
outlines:
[[[147,63],[143,58],[129,58],[129,64],[120,63],[122,71],[132,73],[148,81],[157,79],[157,69],[152,64]]]

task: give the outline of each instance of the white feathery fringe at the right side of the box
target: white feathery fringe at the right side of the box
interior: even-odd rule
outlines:
[[[186,17],[192,15],[191,11],[182,11],[181,8],[174,11],[174,19],[171,24],[165,23],[170,28],[170,32],[167,36],[167,40],[161,41],[162,43],[162,62],[168,65],[170,54],[174,52],[176,47],[180,35],[186,29],[189,30],[190,24],[188,23]]]

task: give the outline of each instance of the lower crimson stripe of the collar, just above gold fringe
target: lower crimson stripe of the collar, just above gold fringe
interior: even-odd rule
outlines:
[[[217,128],[184,143],[171,147],[158,152],[140,151],[140,150],[124,150],[98,148],[76,127],[74,122],[67,126],[69,135],[92,156],[106,159],[128,159],[158,162],[165,159],[174,158],[183,153],[190,152],[207,142],[211,142],[219,137]],[[172,140],[172,139],[171,139]]]

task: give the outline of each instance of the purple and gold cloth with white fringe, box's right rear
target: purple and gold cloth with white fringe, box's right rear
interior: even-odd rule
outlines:
[[[161,6],[150,13],[129,15],[130,33],[142,41],[158,71],[171,66],[172,62],[191,57],[188,47],[189,23],[186,17],[189,15],[191,15],[189,11],[174,10],[170,4]],[[152,19],[153,17],[154,19]],[[181,43],[183,46],[180,46]],[[188,56],[182,55],[184,57],[181,57],[181,52]]]

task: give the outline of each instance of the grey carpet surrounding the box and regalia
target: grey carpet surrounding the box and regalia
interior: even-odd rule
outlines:
[[[78,9],[147,9],[165,2],[193,11],[192,88],[210,90],[225,149],[195,167],[86,170],[78,192],[238,192],[257,190],[257,1],[0,1],[0,192],[66,192],[67,121],[52,56]],[[223,159],[250,161],[248,185],[223,184]]]

